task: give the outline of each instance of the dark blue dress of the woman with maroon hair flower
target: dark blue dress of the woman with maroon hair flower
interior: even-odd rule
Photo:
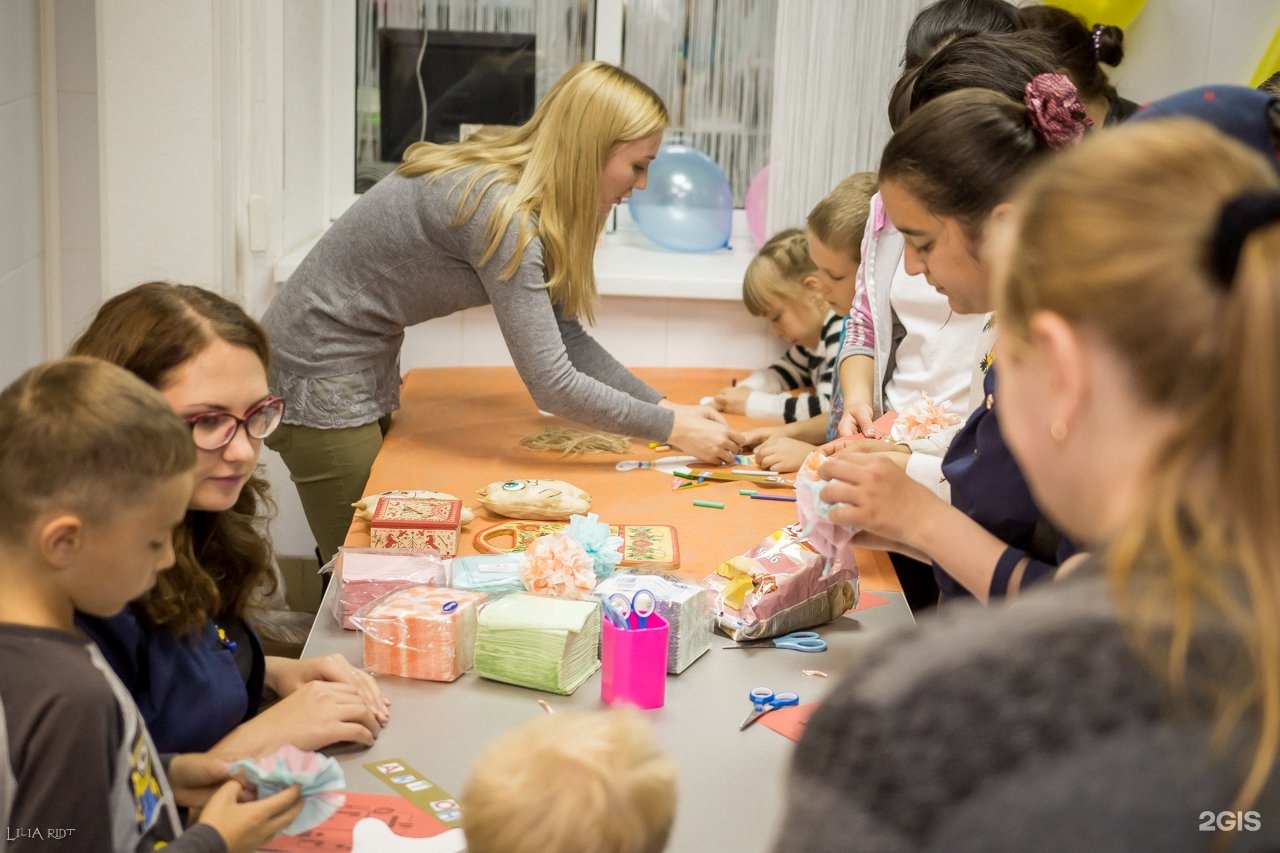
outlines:
[[[951,484],[951,506],[989,530],[1009,547],[996,564],[991,597],[1004,596],[1009,578],[1029,557],[1021,585],[1050,578],[1075,546],[1044,517],[1032,498],[1021,469],[1000,434],[996,409],[996,368],[983,378],[983,403],[969,415],[942,459],[942,475]],[[933,564],[942,601],[969,596],[969,590]]]

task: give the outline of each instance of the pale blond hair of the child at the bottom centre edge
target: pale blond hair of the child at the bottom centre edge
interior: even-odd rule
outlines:
[[[494,740],[460,806],[470,853],[658,853],[676,763],[634,708],[552,713]]]

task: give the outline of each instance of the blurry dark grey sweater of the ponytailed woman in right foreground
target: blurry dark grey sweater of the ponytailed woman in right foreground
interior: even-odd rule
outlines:
[[[1243,753],[1211,753],[1204,713],[1174,711],[1105,579],[1080,571],[868,643],[796,748],[774,849],[1208,849]],[[1204,644],[1193,683],[1238,660]],[[1233,850],[1280,849],[1277,781]]]

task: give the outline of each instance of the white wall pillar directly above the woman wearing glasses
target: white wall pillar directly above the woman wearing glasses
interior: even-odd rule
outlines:
[[[100,0],[99,163],[108,292],[223,291],[219,3]],[[230,270],[234,283],[234,270]],[[234,286],[230,289],[234,293]]]

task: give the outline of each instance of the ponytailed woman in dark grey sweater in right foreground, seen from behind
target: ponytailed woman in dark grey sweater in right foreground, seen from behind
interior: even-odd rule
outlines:
[[[1280,181],[1160,119],[1050,159],[1010,219],[1001,426],[1097,556],[850,661],[776,849],[1280,849]]]

